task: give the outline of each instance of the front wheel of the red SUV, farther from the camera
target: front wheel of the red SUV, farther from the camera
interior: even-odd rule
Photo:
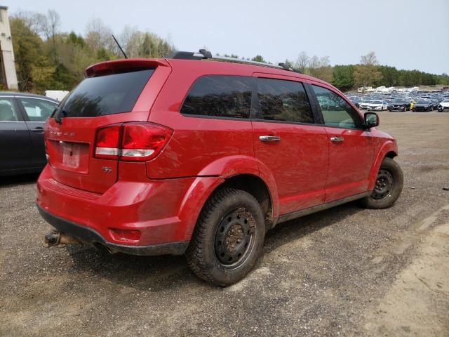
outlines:
[[[361,205],[367,209],[387,209],[401,195],[402,186],[401,166],[391,158],[384,158],[377,173],[374,190],[370,196],[361,199]]]

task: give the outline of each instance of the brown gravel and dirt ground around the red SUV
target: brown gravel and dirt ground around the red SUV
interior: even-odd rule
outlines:
[[[449,114],[381,114],[405,173],[394,207],[356,203],[267,234],[227,288],[183,257],[43,248],[36,176],[0,180],[0,336],[449,336]]]

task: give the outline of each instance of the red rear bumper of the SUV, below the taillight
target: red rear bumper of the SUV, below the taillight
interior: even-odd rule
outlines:
[[[59,183],[46,166],[37,181],[36,204],[48,223],[86,244],[138,255],[183,253],[220,178],[133,178],[119,179],[98,194]],[[138,230],[140,239],[118,237],[116,230]]]

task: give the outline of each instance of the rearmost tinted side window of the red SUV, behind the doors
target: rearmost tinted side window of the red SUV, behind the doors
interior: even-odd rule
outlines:
[[[253,78],[209,75],[196,79],[181,107],[181,114],[248,119]]]

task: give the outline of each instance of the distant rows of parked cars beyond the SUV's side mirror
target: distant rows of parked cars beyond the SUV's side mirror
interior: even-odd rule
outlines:
[[[391,112],[438,112],[449,111],[449,93],[417,91],[412,93],[347,95],[359,110]]]

